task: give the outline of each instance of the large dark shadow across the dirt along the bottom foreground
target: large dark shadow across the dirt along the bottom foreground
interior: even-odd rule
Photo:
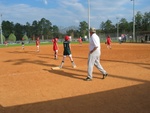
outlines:
[[[149,89],[147,82],[69,98],[9,107],[1,105],[0,113],[149,113]]]

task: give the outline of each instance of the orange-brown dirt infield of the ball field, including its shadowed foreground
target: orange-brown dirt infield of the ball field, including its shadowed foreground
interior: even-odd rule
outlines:
[[[72,45],[77,68],[69,58],[64,68],[51,70],[62,60],[54,60],[52,45],[6,47],[0,49],[0,113],[149,113],[150,44],[101,45],[101,64],[108,72],[94,68],[87,75],[88,44]]]

